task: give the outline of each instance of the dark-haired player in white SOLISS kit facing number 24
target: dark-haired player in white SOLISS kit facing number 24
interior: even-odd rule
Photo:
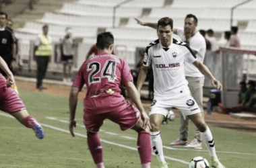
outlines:
[[[154,100],[150,108],[151,139],[154,153],[160,162],[160,168],[168,167],[164,160],[162,138],[160,137],[160,124],[171,108],[181,111],[183,117],[189,118],[197,126],[205,146],[212,159],[212,167],[223,168],[216,155],[214,139],[210,128],[203,119],[201,110],[195,99],[191,96],[187,80],[185,79],[184,62],[193,64],[203,75],[206,75],[213,85],[222,89],[220,81],[216,80],[210,70],[197,59],[191,48],[185,42],[172,38],[173,21],[163,17],[156,26],[158,40],[151,42],[143,59],[143,66],[139,72],[137,89],[140,92],[146,79],[148,67],[152,66],[154,72]]]

